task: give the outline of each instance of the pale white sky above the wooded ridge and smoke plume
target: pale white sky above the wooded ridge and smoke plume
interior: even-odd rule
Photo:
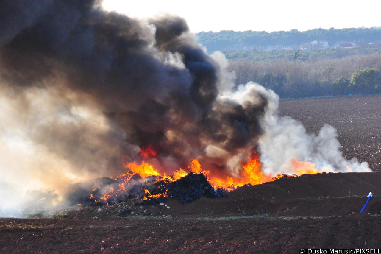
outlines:
[[[104,0],[103,6],[136,18],[176,14],[187,20],[192,32],[381,26],[381,0]]]

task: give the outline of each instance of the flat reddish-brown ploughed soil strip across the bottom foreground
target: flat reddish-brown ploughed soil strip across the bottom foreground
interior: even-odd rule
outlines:
[[[1,219],[0,252],[299,253],[379,247],[381,217]]]

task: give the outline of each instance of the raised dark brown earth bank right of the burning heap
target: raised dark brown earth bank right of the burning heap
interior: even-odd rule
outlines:
[[[381,172],[335,173],[289,177],[261,185],[243,186],[222,199],[201,198],[182,205],[168,200],[172,211],[182,215],[331,216],[359,212],[367,194],[371,198],[365,212],[381,211]]]

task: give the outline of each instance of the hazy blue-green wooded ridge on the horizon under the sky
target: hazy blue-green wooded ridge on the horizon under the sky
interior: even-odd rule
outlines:
[[[298,47],[303,43],[313,40],[327,40],[330,47],[337,42],[375,42],[381,40],[380,27],[373,28],[343,28],[322,29],[317,28],[308,31],[221,31],[200,32],[197,34],[199,42],[208,48],[208,51],[247,49],[281,45],[284,47]]]

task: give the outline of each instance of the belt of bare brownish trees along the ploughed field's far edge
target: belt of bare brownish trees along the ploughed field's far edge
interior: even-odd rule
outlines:
[[[237,84],[257,82],[280,98],[381,93],[381,54],[270,63],[231,60]]]

